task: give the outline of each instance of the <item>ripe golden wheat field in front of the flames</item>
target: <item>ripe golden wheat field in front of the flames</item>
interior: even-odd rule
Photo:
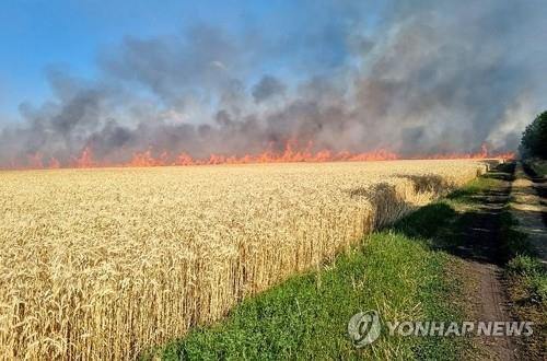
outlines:
[[[135,359],[328,261],[484,162],[0,173],[0,358]]]

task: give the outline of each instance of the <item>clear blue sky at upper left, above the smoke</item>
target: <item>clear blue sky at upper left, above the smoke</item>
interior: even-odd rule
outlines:
[[[40,104],[50,96],[47,67],[93,78],[101,50],[116,47],[125,36],[176,34],[197,23],[232,32],[255,26],[269,36],[299,34],[300,27],[305,31],[316,18],[331,14],[331,1],[318,2],[324,4],[309,7],[310,1],[291,0],[0,0],[0,123],[16,120],[21,102]],[[319,11],[311,13],[310,9]],[[344,49],[337,49],[336,40],[328,44],[331,58],[323,59],[325,63],[344,57],[337,55]]]

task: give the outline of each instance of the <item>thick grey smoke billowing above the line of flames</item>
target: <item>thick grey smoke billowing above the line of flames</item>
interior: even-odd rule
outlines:
[[[152,150],[196,158],[281,150],[401,155],[516,148],[546,101],[542,1],[307,3],[303,30],[268,36],[211,25],[126,37],[95,80],[49,69],[54,98],[21,105],[0,165],[83,149],[118,162]],[[288,30],[289,32],[289,30]],[[542,103],[543,102],[543,103]]]

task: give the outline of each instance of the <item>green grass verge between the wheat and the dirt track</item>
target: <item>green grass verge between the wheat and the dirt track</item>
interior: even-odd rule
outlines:
[[[141,357],[459,360],[481,354],[470,337],[391,337],[385,327],[379,340],[356,349],[347,336],[347,323],[368,310],[376,310],[383,321],[474,319],[463,296],[466,288],[473,288],[466,284],[469,270],[455,251],[465,242],[461,230],[470,226],[473,212],[480,207],[476,196],[509,180],[512,167],[499,166],[373,233],[335,263],[247,299],[223,322],[196,328],[184,339]],[[507,214],[501,222],[510,225]],[[538,272],[537,265],[525,264],[527,258],[522,257],[529,256],[522,255],[521,245],[508,240],[499,246],[510,261],[508,275],[528,277],[529,292],[537,298],[542,280],[528,275],[532,269]]]

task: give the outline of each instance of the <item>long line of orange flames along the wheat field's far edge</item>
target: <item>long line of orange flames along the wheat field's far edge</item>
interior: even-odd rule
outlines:
[[[91,168],[91,167],[149,167],[149,166],[187,166],[187,165],[217,165],[217,164],[252,164],[252,163],[293,163],[293,162],[363,162],[363,161],[391,161],[404,159],[397,153],[385,149],[377,149],[370,152],[334,152],[328,149],[314,151],[313,142],[309,142],[304,148],[296,147],[293,141],[287,142],[284,150],[276,152],[268,149],[258,154],[223,155],[210,154],[205,159],[195,159],[186,152],[172,154],[167,151],[155,153],[152,149],[142,152],[135,152],[130,160],[124,162],[112,162],[108,160],[96,160],[91,148],[85,147],[79,156],[72,156],[66,164],[55,158],[46,158],[39,153],[28,155],[26,164],[20,165],[11,162],[5,168]],[[475,153],[442,153],[409,156],[406,159],[427,160],[455,160],[455,159],[514,159],[513,152],[490,154],[484,144],[479,152]],[[1,168],[1,167],[0,167]]]

